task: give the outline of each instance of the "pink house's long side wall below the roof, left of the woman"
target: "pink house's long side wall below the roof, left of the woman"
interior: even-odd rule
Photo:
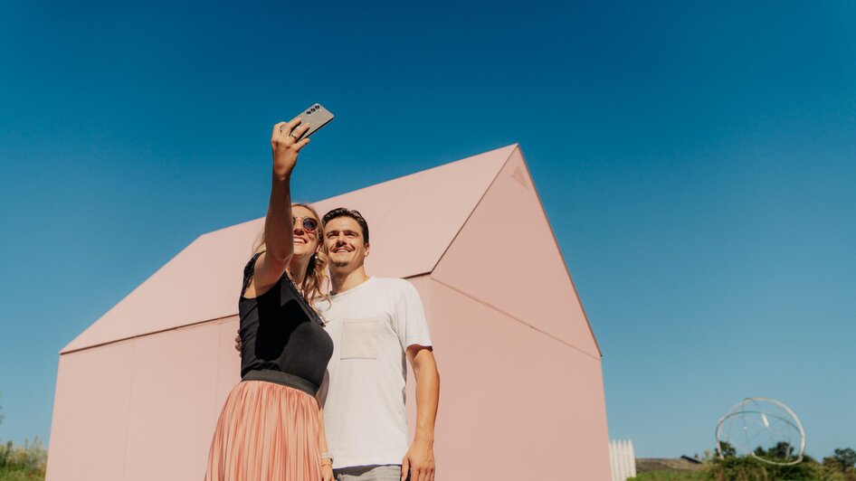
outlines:
[[[202,476],[214,424],[241,380],[236,330],[232,317],[63,354],[49,479]]]

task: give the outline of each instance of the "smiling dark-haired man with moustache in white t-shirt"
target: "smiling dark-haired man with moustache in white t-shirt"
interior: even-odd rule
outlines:
[[[357,211],[324,215],[330,302],[319,311],[333,357],[319,392],[338,481],[434,477],[434,420],[440,375],[422,301],[404,279],[369,278],[368,224]],[[406,360],[416,378],[416,429],[407,439]]]

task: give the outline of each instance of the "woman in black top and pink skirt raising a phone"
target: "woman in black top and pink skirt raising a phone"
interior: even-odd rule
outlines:
[[[308,128],[300,118],[273,127],[271,203],[238,301],[242,382],[217,421],[206,480],[333,479],[314,397],[333,343],[311,307],[321,296],[327,255],[318,213],[290,199]]]

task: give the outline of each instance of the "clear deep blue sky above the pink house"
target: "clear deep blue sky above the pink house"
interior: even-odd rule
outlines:
[[[63,345],[262,216],[271,125],[319,101],[303,200],[520,143],[639,456],[750,395],[856,448],[856,5],[0,5],[0,439],[47,439]]]

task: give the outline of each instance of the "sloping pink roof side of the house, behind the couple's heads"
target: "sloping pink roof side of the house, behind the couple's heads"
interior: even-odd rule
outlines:
[[[371,228],[369,273],[431,272],[517,145],[505,146],[313,205],[357,209]],[[134,289],[61,354],[235,316],[241,272],[263,218],[200,236]]]

